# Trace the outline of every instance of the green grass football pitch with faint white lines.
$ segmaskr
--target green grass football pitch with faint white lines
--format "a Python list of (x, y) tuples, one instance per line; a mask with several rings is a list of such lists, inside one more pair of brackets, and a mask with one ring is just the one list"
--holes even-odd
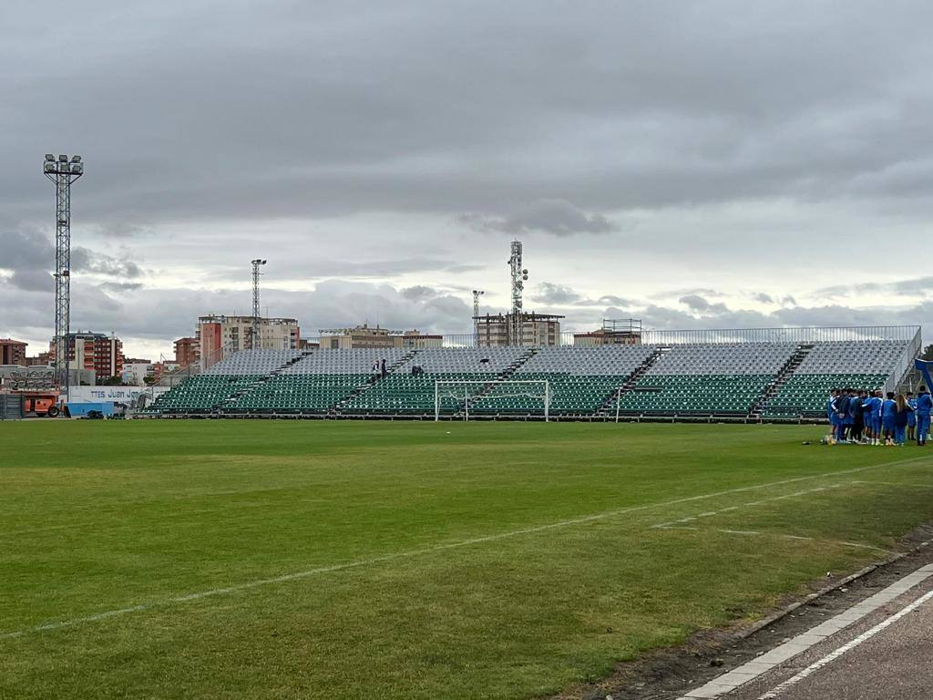
[(0, 697), (557, 693), (933, 518), (933, 453), (822, 432), (0, 424)]

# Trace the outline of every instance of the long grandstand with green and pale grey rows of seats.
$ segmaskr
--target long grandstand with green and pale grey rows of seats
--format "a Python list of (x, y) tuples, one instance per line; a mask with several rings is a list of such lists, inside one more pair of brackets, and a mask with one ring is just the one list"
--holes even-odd
[(912, 387), (921, 343), (918, 327), (646, 331), (641, 340), (243, 350), (175, 385), (141, 414), (819, 420), (833, 387)]

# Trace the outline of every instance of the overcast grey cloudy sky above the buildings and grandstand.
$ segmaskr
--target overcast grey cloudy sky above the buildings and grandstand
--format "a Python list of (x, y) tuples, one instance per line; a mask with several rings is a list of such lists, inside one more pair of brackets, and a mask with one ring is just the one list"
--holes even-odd
[(0, 7), (0, 336), (53, 327), (46, 152), (80, 153), (72, 328), (933, 323), (924, 0)]

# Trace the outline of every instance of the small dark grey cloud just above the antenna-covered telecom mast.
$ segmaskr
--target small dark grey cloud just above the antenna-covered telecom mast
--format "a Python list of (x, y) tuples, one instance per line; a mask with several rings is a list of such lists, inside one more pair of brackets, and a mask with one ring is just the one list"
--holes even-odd
[(618, 231), (618, 224), (602, 214), (587, 214), (566, 200), (538, 200), (508, 217), (463, 214), (457, 220), (476, 231), (500, 231), (519, 234), (543, 231), (556, 236), (575, 233), (609, 233)]

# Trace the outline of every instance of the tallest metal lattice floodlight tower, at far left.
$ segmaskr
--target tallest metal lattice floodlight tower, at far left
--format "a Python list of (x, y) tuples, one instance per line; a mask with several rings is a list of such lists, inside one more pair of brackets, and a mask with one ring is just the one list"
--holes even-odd
[(71, 183), (84, 175), (80, 156), (46, 153), (42, 172), (55, 185), (55, 382), (68, 400), (68, 334), (71, 330)]

